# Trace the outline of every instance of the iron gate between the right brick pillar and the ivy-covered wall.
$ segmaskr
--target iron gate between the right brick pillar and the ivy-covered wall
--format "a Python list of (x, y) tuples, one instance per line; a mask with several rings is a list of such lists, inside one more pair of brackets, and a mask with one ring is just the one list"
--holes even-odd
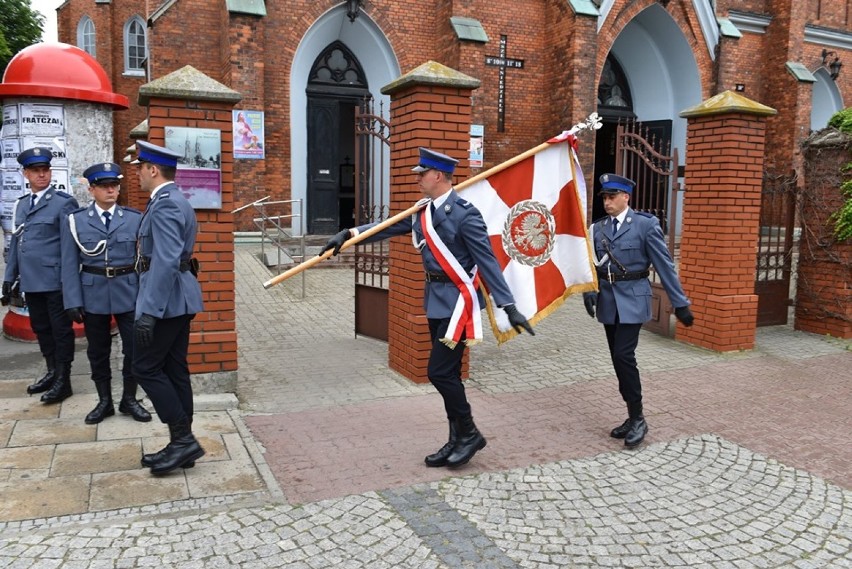
[(796, 222), (796, 173), (764, 172), (754, 292), (757, 325), (787, 323)]

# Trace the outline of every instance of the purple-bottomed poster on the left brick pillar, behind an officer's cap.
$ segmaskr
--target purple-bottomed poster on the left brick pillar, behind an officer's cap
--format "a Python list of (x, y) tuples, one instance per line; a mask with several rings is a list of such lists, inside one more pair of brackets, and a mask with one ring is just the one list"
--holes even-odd
[(166, 127), (166, 148), (182, 156), (175, 184), (195, 209), (222, 207), (222, 133), (210, 128)]

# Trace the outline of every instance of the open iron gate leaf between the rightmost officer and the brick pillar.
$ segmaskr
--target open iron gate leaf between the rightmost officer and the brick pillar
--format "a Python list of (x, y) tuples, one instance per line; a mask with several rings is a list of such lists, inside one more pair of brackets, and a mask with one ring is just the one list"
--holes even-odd
[[(615, 173), (636, 182), (630, 206), (655, 215), (660, 221), (672, 258), (675, 258), (678, 182), (677, 148), (671, 148), (671, 136), (662, 137), (656, 129), (634, 120), (618, 124)], [(669, 133), (671, 131), (669, 130)], [(663, 285), (651, 271), (651, 320), (644, 328), (664, 336), (674, 335), (674, 312)]]

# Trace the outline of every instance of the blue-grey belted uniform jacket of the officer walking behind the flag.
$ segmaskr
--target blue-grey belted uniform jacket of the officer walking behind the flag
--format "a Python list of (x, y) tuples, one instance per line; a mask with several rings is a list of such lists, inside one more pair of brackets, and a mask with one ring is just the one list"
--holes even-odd
[[(595, 221), (592, 225), (595, 255), (598, 259), (610, 254), (628, 273), (642, 272), (653, 265), (672, 306), (679, 308), (689, 305), (656, 217), (628, 208), (624, 223), (614, 237), (609, 216)], [(613, 274), (624, 272), (611, 258), (598, 267), (598, 321), (603, 324), (615, 324), (616, 311), (619, 322), (624, 324), (641, 324), (650, 320), (651, 283), (648, 279), (610, 283), (605, 277), (607, 269)]]

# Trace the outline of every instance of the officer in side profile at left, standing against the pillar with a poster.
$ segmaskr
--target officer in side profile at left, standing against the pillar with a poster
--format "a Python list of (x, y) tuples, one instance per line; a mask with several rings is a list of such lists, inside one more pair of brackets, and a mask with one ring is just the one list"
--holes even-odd
[(142, 465), (159, 475), (193, 466), (204, 456), (192, 434), (187, 364), (190, 323), (203, 305), (198, 264), (192, 258), (195, 211), (174, 183), (181, 156), (145, 141), (138, 141), (136, 148), (139, 185), (151, 199), (139, 226), (133, 375), (169, 426), (169, 444), (142, 457)]

